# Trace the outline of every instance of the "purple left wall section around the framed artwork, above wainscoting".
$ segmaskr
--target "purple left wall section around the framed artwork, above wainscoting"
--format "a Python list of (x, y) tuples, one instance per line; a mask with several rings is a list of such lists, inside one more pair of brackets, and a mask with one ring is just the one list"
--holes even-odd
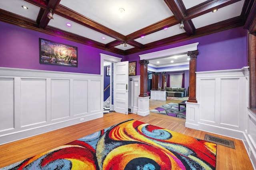
[[(100, 74), (100, 53), (122, 55), (0, 21), (0, 67)], [(78, 47), (78, 67), (39, 63), (39, 38)]]

